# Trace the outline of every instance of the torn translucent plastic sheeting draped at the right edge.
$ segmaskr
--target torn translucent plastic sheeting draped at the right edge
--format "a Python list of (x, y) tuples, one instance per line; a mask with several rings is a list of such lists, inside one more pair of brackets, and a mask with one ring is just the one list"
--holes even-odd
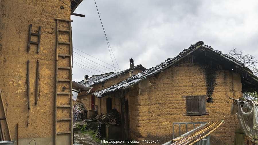
[(231, 114), (238, 117), (239, 128), (253, 141), (258, 142), (258, 104), (251, 100), (239, 98), (231, 106)]

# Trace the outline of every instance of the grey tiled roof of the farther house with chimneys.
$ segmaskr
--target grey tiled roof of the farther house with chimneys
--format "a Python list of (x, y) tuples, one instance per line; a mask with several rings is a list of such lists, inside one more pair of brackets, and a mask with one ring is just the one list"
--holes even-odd
[[(139, 64), (137, 66), (134, 66), (133, 69), (136, 69), (136, 68), (146, 70), (146, 68), (144, 68), (141, 64)], [(90, 77), (87, 82), (84, 82), (84, 80), (83, 80), (79, 83), (82, 84), (82, 85), (86, 85), (86, 86), (92, 86), (92, 85), (107, 81), (109, 79), (112, 79), (112, 78), (114, 78), (118, 75), (122, 75), (122, 74), (127, 73), (127, 72), (129, 72), (129, 69), (123, 70), (123, 71), (120, 71), (120, 72), (117, 72), (117, 73), (110, 72), (110, 73), (105, 73), (105, 74), (102, 74), (102, 75), (95, 75), (95, 76)]]

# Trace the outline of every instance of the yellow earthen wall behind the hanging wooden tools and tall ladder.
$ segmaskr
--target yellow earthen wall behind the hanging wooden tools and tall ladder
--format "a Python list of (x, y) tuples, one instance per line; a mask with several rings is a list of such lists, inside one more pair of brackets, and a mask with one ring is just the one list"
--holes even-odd
[[(70, 5), (70, 0), (63, 1)], [(64, 9), (60, 9), (61, 5), (64, 6)], [(56, 20), (54, 18), (70, 19), (70, 8), (58, 0), (1, 0), (0, 7), (0, 88), (7, 111), (11, 137), (17, 138), (16, 124), (19, 123), (19, 138), (48, 137), (49, 139), (54, 136), (56, 48)], [(35, 44), (31, 44), (30, 51), (27, 52), (30, 24), (32, 24), (34, 33), (38, 33), (39, 26), (42, 26), (39, 53), (36, 52), (37, 45)], [(31, 40), (37, 41), (38, 37), (32, 36)], [(26, 74), (28, 60), (30, 60), (31, 109), (29, 111), (30, 124), (27, 127)], [(41, 95), (38, 105), (35, 105), (37, 60), (40, 62)], [(60, 64), (69, 64), (69, 58), (60, 60)], [(59, 75), (71, 79), (68, 73), (59, 73)], [(70, 86), (66, 87), (70, 88)], [(3, 111), (0, 112), (3, 117)], [(3, 121), (1, 122), (5, 124)], [(69, 125), (67, 127), (69, 129)], [(64, 128), (67, 129), (67, 127)], [(4, 133), (8, 140), (5, 126)]]

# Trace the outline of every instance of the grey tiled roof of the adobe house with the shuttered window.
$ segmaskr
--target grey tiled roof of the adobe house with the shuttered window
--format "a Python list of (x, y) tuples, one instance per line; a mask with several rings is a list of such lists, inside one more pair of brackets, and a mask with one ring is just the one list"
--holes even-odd
[[(162, 62), (161, 64), (159, 64), (159, 65), (157, 65), (155, 67), (149, 68), (149, 69), (147, 69), (147, 70), (145, 70), (145, 71), (143, 71), (141, 73), (133, 75), (132, 77), (117, 83), (116, 85), (113, 85), (113, 86), (110, 86), (108, 88), (105, 88), (105, 89), (93, 92), (92, 95), (95, 95), (97, 97), (104, 97), (105, 95), (108, 95), (111, 92), (117, 91), (117, 90), (119, 90), (121, 88), (127, 89), (127, 88), (129, 88), (129, 87), (139, 83), (143, 79), (151, 77), (151, 76), (155, 75), (156, 73), (159, 73), (162, 70), (168, 68), (169, 66), (171, 66), (174, 63), (178, 62), (179, 60), (185, 58), (186, 56), (188, 56), (189, 54), (191, 54), (192, 52), (194, 52), (198, 48), (203, 49), (203, 51), (204, 50), (208, 50), (210, 52), (213, 52), (214, 54), (216, 54), (216, 55), (226, 59), (229, 62), (232, 62), (232, 63), (240, 66), (241, 68), (244, 67), (243, 66), (244, 65), (243, 62), (239, 62), (236, 59), (232, 58), (231, 56), (228, 56), (227, 54), (223, 54), (221, 51), (214, 50), (211, 46), (205, 45), (202, 41), (199, 41), (196, 44), (191, 45), (188, 49), (184, 49), (177, 56), (175, 56), (173, 58), (168, 58), (167, 60), (165, 60), (165, 62)], [(253, 74), (251, 74), (251, 75), (253, 75)]]

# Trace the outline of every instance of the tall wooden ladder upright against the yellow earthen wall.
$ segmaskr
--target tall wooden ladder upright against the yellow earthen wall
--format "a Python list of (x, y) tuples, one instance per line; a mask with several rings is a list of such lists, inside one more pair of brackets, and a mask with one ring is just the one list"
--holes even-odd
[[(55, 80), (55, 103), (54, 103), (55, 105), (54, 106), (54, 145), (57, 144), (57, 136), (62, 134), (63, 135), (70, 134), (70, 145), (73, 145), (73, 111), (72, 111), (73, 101), (72, 101), (72, 66), (71, 66), (72, 64), (71, 21), (72, 20), (58, 19), (58, 18), (55, 18), (55, 19), (56, 19), (56, 74), (55, 74), (56, 80)], [(69, 28), (67, 30), (67, 29), (60, 29), (60, 27), (61, 28), (69, 27)], [(62, 33), (63, 35), (59, 36), (59, 32)], [(68, 37), (69, 37), (69, 40), (67, 39)], [(68, 40), (69, 42), (62, 42), (60, 40)], [(60, 48), (59, 48), (59, 45), (60, 45)], [(59, 51), (62, 54), (59, 54), (58, 53)], [(65, 59), (67, 58), (69, 58), (69, 65), (61, 66), (61, 65), (67, 64), (65, 62)], [(67, 75), (65, 75), (67, 74), (67, 71), (69, 72), (69, 78), (67, 78)], [(65, 86), (69, 86), (69, 88), (67, 89)], [(67, 117), (67, 114), (65, 114), (65, 112), (69, 112), (69, 117)], [(70, 126), (69, 130), (62, 130), (61, 128), (57, 128), (57, 126), (58, 127), (65, 126), (64, 124), (67, 122), (69, 122), (69, 126)]]

